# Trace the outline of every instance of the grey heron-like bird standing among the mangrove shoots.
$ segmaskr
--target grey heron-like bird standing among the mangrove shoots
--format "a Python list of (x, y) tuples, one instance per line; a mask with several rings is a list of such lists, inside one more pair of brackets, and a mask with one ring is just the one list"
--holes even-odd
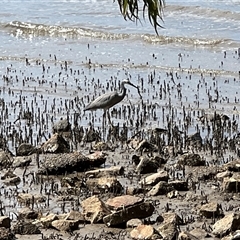
[[(104, 118), (106, 117), (106, 113), (107, 113), (108, 120), (109, 120), (109, 122), (112, 125), (112, 122), (111, 122), (108, 110), (112, 106), (114, 106), (117, 103), (121, 102), (123, 100), (123, 98), (126, 96), (126, 93), (127, 93), (127, 89), (125, 87), (126, 84), (131, 85), (131, 86), (137, 88), (138, 89), (138, 93), (139, 93), (139, 88), (137, 86), (132, 84), (128, 79), (124, 79), (121, 82), (121, 90), (120, 90), (120, 92), (114, 91), (114, 92), (110, 92), (110, 93), (105, 93), (105, 94), (97, 97), (96, 99), (94, 99), (90, 104), (88, 104), (85, 107), (84, 112), (85, 111), (89, 111), (89, 110), (93, 111), (93, 110), (97, 110), (97, 109), (103, 109), (104, 110), (103, 121), (104, 121)], [(140, 95), (140, 93), (139, 93), (139, 95)]]

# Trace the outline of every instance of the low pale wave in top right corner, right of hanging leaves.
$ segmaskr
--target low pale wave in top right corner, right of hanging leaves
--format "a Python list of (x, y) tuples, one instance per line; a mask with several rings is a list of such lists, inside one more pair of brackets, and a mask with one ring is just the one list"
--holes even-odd
[(222, 20), (232, 20), (239, 21), (240, 14), (239, 12), (232, 12), (228, 10), (220, 10), (214, 8), (204, 8), (200, 6), (180, 6), (180, 5), (168, 5), (166, 8), (166, 13), (177, 12), (184, 15), (191, 14), (200, 17), (216, 18)]

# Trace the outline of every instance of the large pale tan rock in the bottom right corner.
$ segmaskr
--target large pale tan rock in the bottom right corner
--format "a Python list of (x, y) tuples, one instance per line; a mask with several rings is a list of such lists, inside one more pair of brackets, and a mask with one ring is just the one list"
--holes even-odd
[(239, 230), (240, 214), (231, 213), (218, 220), (213, 225), (213, 234), (216, 236), (226, 236), (230, 231)]

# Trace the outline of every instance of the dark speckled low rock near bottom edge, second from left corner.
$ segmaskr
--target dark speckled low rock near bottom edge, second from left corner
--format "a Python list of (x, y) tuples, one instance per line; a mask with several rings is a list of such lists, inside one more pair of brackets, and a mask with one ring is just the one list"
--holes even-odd
[(32, 235), (32, 234), (41, 233), (41, 231), (36, 225), (34, 225), (31, 222), (25, 222), (25, 221), (18, 221), (13, 227), (13, 232), (15, 234), (21, 234), (21, 235)]

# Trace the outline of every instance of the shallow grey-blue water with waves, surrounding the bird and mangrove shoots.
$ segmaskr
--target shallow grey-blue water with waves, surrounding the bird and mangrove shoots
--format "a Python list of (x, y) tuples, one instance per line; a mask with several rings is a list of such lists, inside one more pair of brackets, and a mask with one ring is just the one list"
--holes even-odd
[[(83, 115), (83, 108), (126, 77), (141, 87), (143, 100), (129, 88), (115, 106), (122, 114), (113, 121), (120, 126), (134, 127), (144, 116), (142, 128), (164, 128), (172, 116), (193, 133), (203, 110), (238, 121), (239, 1), (167, 1), (159, 36), (148, 22), (124, 21), (109, 0), (3, 1), (0, 16), (1, 133), (8, 132), (11, 149), (18, 145), (11, 139), (15, 130), (22, 131), (20, 142), (40, 144), (39, 132), (48, 136), (61, 117), (73, 122), (80, 114), (84, 127), (94, 117), (101, 127), (102, 111)], [(209, 102), (217, 93), (218, 101)], [(124, 117), (130, 103), (135, 111)], [(184, 111), (193, 116), (193, 110), (184, 129)], [(34, 124), (24, 120), (25, 112), (32, 112)]]

